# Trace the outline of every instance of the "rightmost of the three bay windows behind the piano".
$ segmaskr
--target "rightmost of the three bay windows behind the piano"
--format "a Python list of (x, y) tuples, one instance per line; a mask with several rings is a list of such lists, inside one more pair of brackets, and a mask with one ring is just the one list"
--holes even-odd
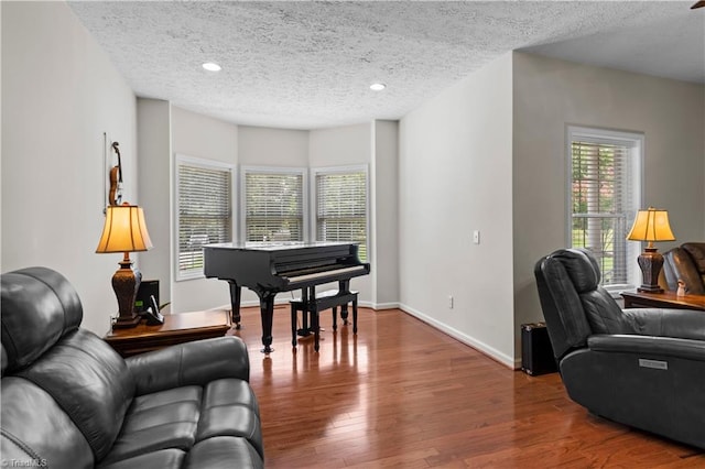
[(317, 241), (355, 241), (367, 261), (367, 167), (314, 170)]

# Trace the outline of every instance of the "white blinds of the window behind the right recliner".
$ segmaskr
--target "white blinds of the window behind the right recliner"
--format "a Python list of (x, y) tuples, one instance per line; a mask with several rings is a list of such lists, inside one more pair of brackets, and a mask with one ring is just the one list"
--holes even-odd
[(627, 217), (638, 208), (631, 161), (628, 144), (572, 142), (572, 246), (595, 254), (603, 284), (627, 283)]

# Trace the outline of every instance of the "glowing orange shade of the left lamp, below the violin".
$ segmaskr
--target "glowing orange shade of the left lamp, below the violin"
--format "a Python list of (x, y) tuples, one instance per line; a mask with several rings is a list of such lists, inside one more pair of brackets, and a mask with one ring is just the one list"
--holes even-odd
[(96, 252), (134, 252), (152, 248), (144, 211), (137, 205), (116, 205), (106, 209), (106, 225)]

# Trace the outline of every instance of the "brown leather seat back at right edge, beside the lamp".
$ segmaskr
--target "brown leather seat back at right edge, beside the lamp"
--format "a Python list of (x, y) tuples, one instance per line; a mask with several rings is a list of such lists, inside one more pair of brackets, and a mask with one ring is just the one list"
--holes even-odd
[(666, 251), (663, 274), (668, 290), (676, 291), (682, 280), (688, 295), (705, 295), (705, 242), (685, 242)]

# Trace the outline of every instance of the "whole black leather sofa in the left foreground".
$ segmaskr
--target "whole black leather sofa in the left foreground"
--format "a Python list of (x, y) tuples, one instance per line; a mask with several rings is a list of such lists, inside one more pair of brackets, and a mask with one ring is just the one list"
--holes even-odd
[(3, 467), (261, 468), (259, 406), (237, 337), (122, 359), (79, 327), (59, 273), (0, 279)]

